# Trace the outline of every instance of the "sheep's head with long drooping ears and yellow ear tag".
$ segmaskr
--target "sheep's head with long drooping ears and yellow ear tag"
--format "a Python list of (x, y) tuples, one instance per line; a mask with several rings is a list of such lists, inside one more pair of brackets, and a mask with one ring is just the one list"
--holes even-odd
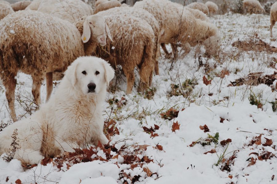
[(110, 29), (106, 24), (106, 20), (99, 15), (90, 15), (86, 17), (83, 23), (82, 41), (86, 43), (89, 39), (93, 39), (99, 45), (106, 45), (106, 35), (111, 41)]

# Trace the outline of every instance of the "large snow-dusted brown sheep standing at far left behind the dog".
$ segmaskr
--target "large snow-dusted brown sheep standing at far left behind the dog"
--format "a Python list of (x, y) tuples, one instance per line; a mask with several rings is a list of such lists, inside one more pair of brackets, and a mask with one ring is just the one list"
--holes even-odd
[(90, 45), (82, 42), (76, 25), (38, 11), (18, 11), (0, 21), (0, 77), (14, 121), (15, 76), (19, 71), (33, 78), (34, 102), (40, 105), (40, 86), (45, 76), (48, 100), (53, 89), (53, 71), (64, 71), (85, 52), (95, 52), (98, 43), (106, 44), (106, 35), (102, 36), (108, 30), (105, 19), (99, 16), (91, 19), (95, 22), (92, 30), (99, 36), (91, 35)]

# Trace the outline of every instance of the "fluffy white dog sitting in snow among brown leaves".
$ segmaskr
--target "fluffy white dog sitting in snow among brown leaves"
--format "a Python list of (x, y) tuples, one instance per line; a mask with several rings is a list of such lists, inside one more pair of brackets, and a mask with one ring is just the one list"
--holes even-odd
[[(76, 59), (46, 104), (0, 133), (0, 155), (10, 152), (22, 163), (34, 164), (44, 156), (72, 152), (87, 143), (108, 143), (102, 110), (106, 87), (113, 77), (114, 70), (100, 58)], [(15, 131), (18, 135), (14, 142), (18, 144), (12, 146)]]

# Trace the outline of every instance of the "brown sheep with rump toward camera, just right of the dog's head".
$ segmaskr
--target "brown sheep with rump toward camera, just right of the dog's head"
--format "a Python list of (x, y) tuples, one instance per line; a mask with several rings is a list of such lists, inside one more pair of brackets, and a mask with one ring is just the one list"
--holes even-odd
[[(114, 68), (117, 65), (122, 66), (127, 79), (126, 94), (132, 92), (135, 80), (134, 68), (138, 66), (140, 76), (138, 92), (141, 92), (151, 86), (152, 82), (155, 66), (154, 32), (151, 26), (141, 18), (136, 18), (130, 14), (108, 14), (106, 11), (98, 12), (96, 15), (106, 19), (113, 42), (107, 41), (105, 47), (97, 47), (96, 56), (109, 61)], [(88, 22), (90, 22), (90, 16), (78, 23), (80, 32), (82, 32), (83, 23), (82, 37), (85, 38), (88, 37), (87, 34), (90, 34)], [(87, 39), (84, 42), (86, 41)]]

